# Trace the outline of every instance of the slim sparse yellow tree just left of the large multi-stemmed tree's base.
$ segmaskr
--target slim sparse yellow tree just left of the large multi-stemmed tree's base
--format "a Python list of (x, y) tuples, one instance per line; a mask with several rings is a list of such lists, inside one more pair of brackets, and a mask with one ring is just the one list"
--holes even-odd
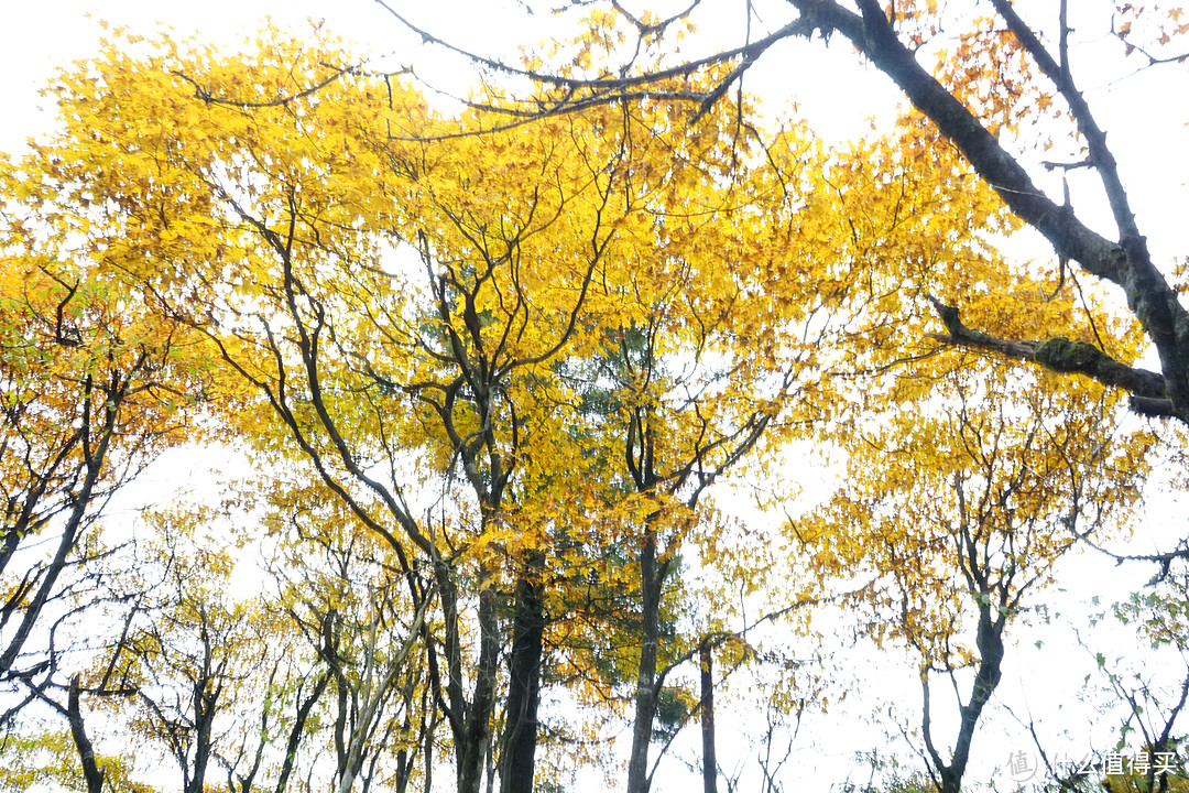
[[(439, 715), (426, 674), (422, 624), (432, 605), (404, 613), (400, 566), (380, 537), (360, 527), (333, 493), (308, 479), (285, 486), (270, 477), (249, 489), (266, 503), (263, 523), (273, 547), (266, 560), (279, 618), (316, 659), (302, 699), (317, 737), (290, 734), (284, 774), (297, 750), (321, 741), (334, 757), (335, 787), (367, 789), (382, 781), (430, 786)], [(237, 501), (244, 501), (239, 497)], [(294, 723), (294, 730), (300, 725)], [(278, 789), (284, 782), (278, 782)]]

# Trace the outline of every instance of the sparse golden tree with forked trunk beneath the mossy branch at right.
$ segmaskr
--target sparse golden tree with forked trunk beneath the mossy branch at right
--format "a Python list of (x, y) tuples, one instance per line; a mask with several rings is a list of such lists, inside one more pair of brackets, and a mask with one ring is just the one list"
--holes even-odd
[[(1097, 386), (1052, 390), (974, 361), (944, 377), (958, 399), (900, 404), (856, 433), (847, 484), (792, 531), (818, 574), (872, 577), (855, 598), (870, 609), (867, 632), (916, 656), (921, 756), (936, 788), (956, 793), (1008, 627), (1080, 539), (1126, 522), (1151, 439), (1112, 428)], [(968, 692), (952, 748), (932, 728), (936, 675)]]

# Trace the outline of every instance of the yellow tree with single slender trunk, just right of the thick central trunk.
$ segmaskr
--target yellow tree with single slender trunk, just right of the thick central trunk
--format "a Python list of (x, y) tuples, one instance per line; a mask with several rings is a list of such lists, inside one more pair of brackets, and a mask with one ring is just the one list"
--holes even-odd
[[(828, 152), (798, 126), (765, 145), (759, 136), (721, 134), (732, 115), (716, 118), (721, 126), (703, 130), (697, 145), (669, 143), (665, 131), (681, 124), (674, 108), (673, 126), (653, 127), (656, 140), (634, 143), (661, 146), (674, 171), (654, 194), (656, 244), (636, 250), (627, 276), (604, 279), (618, 300), (616, 319), (598, 354), (567, 364), (589, 382), (593, 432), (610, 449), (600, 498), (630, 510), (621, 530), (640, 548), (627, 567), (640, 619), (638, 637), (628, 638), (638, 647), (631, 789), (646, 788), (655, 769), (648, 754), (666, 676), (709, 636), (662, 641), (682, 545), (692, 540), (706, 564), (728, 566), (703, 496), (757, 446), (770, 454), (844, 416), (838, 397), (850, 386), (837, 375), (856, 360), (869, 367), (895, 358), (894, 334), (911, 333), (889, 320), (901, 308), (899, 290), (927, 290), (932, 257), (990, 256), (977, 225), (1000, 213), (984, 190), (944, 195), (946, 180), (963, 176), (952, 159), (882, 141)], [(905, 185), (899, 196), (860, 197), (866, 180), (879, 178), (863, 170), (873, 151), (887, 162), (883, 177), (895, 172)], [(748, 168), (756, 161), (766, 169)], [(908, 185), (919, 191), (905, 197)], [(872, 276), (869, 265), (891, 251), (919, 271)], [(750, 566), (743, 577), (763, 586), (754, 556), (737, 553), (735, 564)]]

